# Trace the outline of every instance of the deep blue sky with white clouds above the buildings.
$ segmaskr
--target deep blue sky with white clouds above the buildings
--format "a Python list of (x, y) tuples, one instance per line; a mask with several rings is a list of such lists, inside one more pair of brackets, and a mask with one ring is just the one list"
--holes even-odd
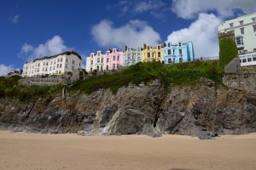
[[(68, 50), (194, 43), (218, 56), (218, 25), (256, 12), (255, 0), (1, 0), (0, 76), (26, 61)], [(84, 62), (84, 60), (83, 60)]]

